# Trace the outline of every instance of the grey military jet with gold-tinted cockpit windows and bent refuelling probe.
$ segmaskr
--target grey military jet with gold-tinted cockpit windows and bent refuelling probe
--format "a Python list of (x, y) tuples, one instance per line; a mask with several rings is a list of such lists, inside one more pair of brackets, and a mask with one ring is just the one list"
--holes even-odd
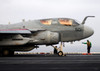
[(90, 37), (94, 31), (84, 25), (88, 17), (94, 16), (86, 16), (82, 23), (70, 18), (49, 18), (1, 25), (0, 55), (11, 56), (14, 51), (30, 51), (37, 45), (54, 45)]

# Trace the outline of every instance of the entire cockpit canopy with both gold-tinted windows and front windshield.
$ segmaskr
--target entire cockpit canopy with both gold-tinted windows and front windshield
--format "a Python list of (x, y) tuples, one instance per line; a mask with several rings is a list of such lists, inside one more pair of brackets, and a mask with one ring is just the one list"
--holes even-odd
[[(55, 21), (55, 22), (54, 22)], [(44, 25), (60, 24), (65, 26), (79, 25), (76, 20), (68, 18), (58, 18), (58, 19), (42, 19), (40, 22)]]

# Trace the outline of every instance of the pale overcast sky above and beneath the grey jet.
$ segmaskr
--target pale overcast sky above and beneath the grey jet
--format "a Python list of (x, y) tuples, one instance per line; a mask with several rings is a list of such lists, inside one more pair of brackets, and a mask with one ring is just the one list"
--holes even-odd
[[(88, 18), (85, 25), (94, 29), (94, 35), (87, 38), (92, 42), (92, 52), (100, 52), (100, 0), (0, 0), (0, 24), (11, 24), (25, 21), (66, 17), (80, 22), (85, 16)], [(73, 44), (65, 43), (64, 52), (86, 52), (87, 39), (76, 41)], [(59, 47), (59, 44), (57, 45)], [(33, 52), (51, 52), (51, 46), (40, 46)]]

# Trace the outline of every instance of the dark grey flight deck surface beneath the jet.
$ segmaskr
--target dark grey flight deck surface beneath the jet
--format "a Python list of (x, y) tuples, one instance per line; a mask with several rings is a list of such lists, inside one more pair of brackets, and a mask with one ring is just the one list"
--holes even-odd
[(100, 71), (100, 54), (0, 57), (0, 71)]

